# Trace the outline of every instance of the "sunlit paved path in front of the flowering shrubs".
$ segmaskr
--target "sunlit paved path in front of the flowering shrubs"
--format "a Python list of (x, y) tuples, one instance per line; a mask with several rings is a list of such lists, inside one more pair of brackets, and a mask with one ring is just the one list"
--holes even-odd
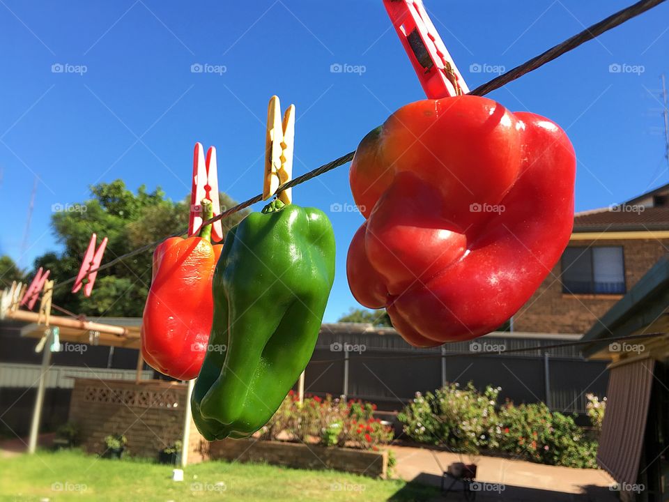
[[(395, 475), (406, 481), (439, 485), (441, 473), (453, 462), (470, 463), (468, 455), (432, 450), (391, 446), (397, 466)], [(606, 471), (598, 469), (570, 469), (546, 466), (500, 457), (477, 457), (477, 481), (484, 492), (477, 492), (477, 502), (615, 502), (617, 493)], [(445, 500), (464, 500), (463, 494), (448, 494)]]

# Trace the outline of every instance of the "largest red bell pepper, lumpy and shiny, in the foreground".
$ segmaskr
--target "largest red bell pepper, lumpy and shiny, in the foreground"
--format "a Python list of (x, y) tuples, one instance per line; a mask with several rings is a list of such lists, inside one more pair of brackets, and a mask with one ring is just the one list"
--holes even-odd
[(500, 327), (569, 241), (574, 149), (555, 123), (475, 96), (406, 105), (358, 146), (351, 190), (364, 218), (348, 283), (387, 307), (411, 344)]

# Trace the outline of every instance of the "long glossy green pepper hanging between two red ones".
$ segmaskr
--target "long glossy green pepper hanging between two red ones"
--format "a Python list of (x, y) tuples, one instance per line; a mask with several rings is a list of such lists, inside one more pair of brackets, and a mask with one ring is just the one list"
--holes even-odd
[(225, 238), (193, 420), (209, 441), (263, 427), (305, 370), (334, 280), (323, 211), (272, 201)]

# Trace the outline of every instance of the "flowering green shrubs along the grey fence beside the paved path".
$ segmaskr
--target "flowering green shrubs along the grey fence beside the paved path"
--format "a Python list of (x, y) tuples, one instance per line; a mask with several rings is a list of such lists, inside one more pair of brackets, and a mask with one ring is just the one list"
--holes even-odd
[(543, 403), (497, 406), (500, 388), (483, 393), (468, 383), (450, 383), (424, 396), (416, 394), (401, 413), (404, 432), (414, 441), (466, 453), (502, 450), (532, 462), (597, 467), (597, 442), (574, 418)]

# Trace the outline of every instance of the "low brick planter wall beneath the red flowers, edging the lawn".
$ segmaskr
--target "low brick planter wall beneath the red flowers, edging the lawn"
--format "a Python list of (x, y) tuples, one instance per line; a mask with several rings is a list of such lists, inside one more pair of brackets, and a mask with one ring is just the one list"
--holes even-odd
[(212, 459), (267, 462), (298, 469), (334, 469), (375, 478), (385, 478), (388, 469), (388, 452), (385, 451), (325, 448), (255, 439), (214, 441), (210, 443), (210, 456)]

